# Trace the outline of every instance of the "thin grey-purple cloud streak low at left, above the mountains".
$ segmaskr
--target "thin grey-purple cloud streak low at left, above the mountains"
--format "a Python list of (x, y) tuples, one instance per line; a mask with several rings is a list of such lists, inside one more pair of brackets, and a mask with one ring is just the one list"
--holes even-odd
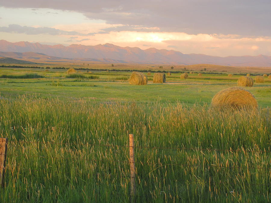
[(0, 32), (10, 32), (10, 33), (19, 33), (27, 35), (39, 35), (39, 34), (48, 34), (48, 35), (79, 35), (79, 36), (88, 36), (94, 35), (93, 33), (83, 34), (75, 31), (65, 31), (60, 29), (55, 29), (51, 27), (29, 27), (29, 26), (20, 26), (17, 24), (9, 25), (8, 27), (0, 27)]

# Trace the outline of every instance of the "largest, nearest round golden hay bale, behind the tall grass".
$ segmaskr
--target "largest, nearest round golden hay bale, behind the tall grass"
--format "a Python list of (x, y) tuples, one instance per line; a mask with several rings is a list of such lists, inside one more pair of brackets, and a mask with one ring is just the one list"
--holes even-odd
[(216, 93), (211, 106), (219, 109), (255, 109), (258, 107), (258, 103), (249, 91), (233, 87)]

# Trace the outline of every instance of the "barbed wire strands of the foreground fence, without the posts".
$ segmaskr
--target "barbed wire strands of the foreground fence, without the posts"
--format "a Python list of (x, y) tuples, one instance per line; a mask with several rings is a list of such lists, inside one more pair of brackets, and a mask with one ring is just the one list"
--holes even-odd
[[(103, 147), (124, 147), (124, 148), (145, 148), (145, 149), (155, 149), (155, 150), (184, 150), (184, 151), (188, 151), (188, 150), (193, 150), (193, 151), (207, 151), (207, 152), (231, 152), (231, 153), (238, 153), (238, 152), (243, 152), (243, 153), (270, 153), (271, 151), (269, 151), (270, 149), (266, 150), (248, 150), (248, 149), (208, 149), (208, 148), (185, 148), (185, 147), (156, 147), (156, 146), (128, 146), (128, 145), (111, 145), (111, 144), (90, 144), (90, 143), (64, 143), (64, 142), (45, 142), (45, 141), (25, 141), (25, 140), (13, 140), (13, 141), (8, 141), (8, 144), (12, 144), (12, 145), (17, 145), (17, 144), (29, 144), (29, 143), (35, 143), (38, 145), (81, 145), (81, 146), (103, 146)], [(41, 155), (27, 155), (27, 154), (16, 154), (16, 153), (6, 153), (6, 154), (1, 154), (1, 155), (5, 155), (5, 156), (12, 156), (12, 157), (37, 157), (37, 158), (44, 158), (44, 159), (63, 159), (63, 160), (84, 160), (84, 161), (95, 161), (95, 162), (117, 162), (117, 163), (127, 163), (127, 164), (140, 164), (142, 166), (144, 165), (149, 165), (150, 162), (144, 162), (144, 161), (140, 161), (140, 162), (136, 162), (136, 161), (122, 161), (122, 160), (106, 160), (106, 159), (89, 159), (89, 158), (65, 158), (65, 157), (46, 157), (46, 156), (41, 156)], [(157, 163), (159, 165), (170, 165), (168, 163), (162, 163), (159, 161), (159, 163)], [(178, 163), (174, 163), (174, 165), (176, 166), (182, 166), (182, 167), (204, 167), (204, 168), (238, 168), (238, 169), (256, 169), (256, 170), (266, 170), (266, 171), (271, 171), (271, 168), (263, 168), (263, 167), (245, 167), (245, 166), (222, 166), (222, 165), (217, 165), (217, 164), (178, 164)], [(12, 167), (11, 165), (7, 165), (6, 167), (0, 166), (0, 168), (4, 168), (5, 170), (11, 170)], [(38, 169), (33, 169), (33, 168), (23, 168), (20, 169), (23, 171), (40, 171), (40, 172), (45, 172), (45, 169), (43, 170), (38, 170)], [(66, 172), (67, 174), (70, 174), (71, 172)], [(97, 174), (93, 174), (93, 173), (78, 173), (78, 172), (73, 172), (73, 174), (77, 174), (77, 175), (99, 175), (99, 173)], [(120, 174), (120, 178), (129, 178), (131, 179), (131, 176), (125, 176)], [(145, 180), (145, 179), (154, 179), (154, 180), (160, 180), (161, 177), (139, 177), (137, 176), (137, 178), (139, 180)], [(163, 177), (163, 178), (167, 178), (167, 177)], [(163, 179), (164, 180), (164, 179)], [(184, 180), (184, 179), (178, 179), (178, 178), (167, 178), (167, 180), (172, 180), (172, 181), (189, 181), (189, 182), (197, 182), (198, 180)], [(254, 184), (254, 183), (249, 183), (249, 185), (258, 185), (258, 186), (270, 186), (269, 184)]]

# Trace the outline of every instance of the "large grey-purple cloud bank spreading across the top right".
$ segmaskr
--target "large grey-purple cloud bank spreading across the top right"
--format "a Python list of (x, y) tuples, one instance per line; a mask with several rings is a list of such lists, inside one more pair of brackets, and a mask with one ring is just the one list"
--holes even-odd
[(66, 0), (65, 4), (53, 0), (9, 0), (1, 5), (75, 11), (108, 24), (128, 25), (112, 28), (114, 31), (142, 26), (188, 34), (271, 35), (270, 0)]

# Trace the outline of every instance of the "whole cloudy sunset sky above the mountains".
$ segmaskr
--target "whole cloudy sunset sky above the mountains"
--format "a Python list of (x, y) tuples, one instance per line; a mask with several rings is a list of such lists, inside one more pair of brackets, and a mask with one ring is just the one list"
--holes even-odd
[(271, 0), (1, 0), (0, 39), (271, 56)]

